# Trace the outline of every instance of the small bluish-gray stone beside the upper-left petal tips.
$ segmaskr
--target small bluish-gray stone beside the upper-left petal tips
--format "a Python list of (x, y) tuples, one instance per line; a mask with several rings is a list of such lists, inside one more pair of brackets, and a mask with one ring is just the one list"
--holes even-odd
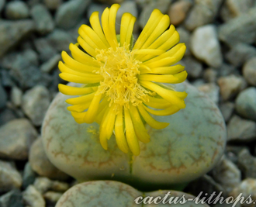
[(51, 47), (54, 47), (58, 52), (69, 51), (70, 43), (76, 42), (69, 33), (62, 29), (54, 29), (54, 32), (47, 36), (47, 40), (49, 40)]

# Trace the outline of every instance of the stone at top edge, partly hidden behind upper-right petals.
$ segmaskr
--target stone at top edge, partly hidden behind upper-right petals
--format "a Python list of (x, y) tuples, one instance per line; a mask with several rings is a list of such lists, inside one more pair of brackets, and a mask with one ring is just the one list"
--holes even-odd
[(159, 9), (163, 14), (167, 13), (171, 2), (172, 0), (157, 0), (145, 3), (139, 17), (140, 27), (143, 28), (146, 25), (154, 9)]

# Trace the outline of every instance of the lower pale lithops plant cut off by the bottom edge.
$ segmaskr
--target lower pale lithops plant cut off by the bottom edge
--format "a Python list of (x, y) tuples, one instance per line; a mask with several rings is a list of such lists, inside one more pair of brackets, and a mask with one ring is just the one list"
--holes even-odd
[[(160, 198), (157, 198), (158, 196)], [(74, 185), (66, 191), (57, 202), (56, 207), (209, 207), (209, 205), (195, 203), (190, 200), (194, 198), (194, 196), (182, 191), (144, 193), (118, 181), (88, 181)]]

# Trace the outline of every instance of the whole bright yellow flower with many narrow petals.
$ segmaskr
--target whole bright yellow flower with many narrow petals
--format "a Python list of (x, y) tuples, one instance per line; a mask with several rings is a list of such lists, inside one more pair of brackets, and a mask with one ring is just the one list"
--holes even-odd
[[(144, 122), (154, 129), (163, 129), (166, 122), (157, 122), (150, 114), (169, 116), (185, 108), (186, 93), (169, 85), (185, 81), (182, 59), (185, 44), (170, 19), (154, 9), (147, 25), (133, 45), (133, 25), (136, 18), (125, 13), (116, 36), (116, 12), (112, 5), (90, 17), (91, 26), (78, 29), (78, 43), (70, 45), (72, 57), (62, 52), (60, 77), (83, 84), (81, 88), (59, 85), (64, 95), (79, 95), (67, 99), (67, 110), (78, 123), (98, 122), (100, 143), (107, 150), (112, 133), (120, 150), (140, 154), (139, 141), (147, 143), (150, 136)], [(169, 27), (169, 28), (168, 28)], [(178, 44), (177, 44), (178, 43)], [(84, 51), (85, 50), (85, 51)], [(161, 110), (159, 110), (161, 109)]]

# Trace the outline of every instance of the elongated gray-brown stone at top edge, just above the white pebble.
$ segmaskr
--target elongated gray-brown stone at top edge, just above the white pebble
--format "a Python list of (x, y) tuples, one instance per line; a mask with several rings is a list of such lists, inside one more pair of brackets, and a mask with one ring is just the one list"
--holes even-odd
[(193, 30), (213, 22), (223, 0), (197, 0), (185, 20), (185, 27)]

